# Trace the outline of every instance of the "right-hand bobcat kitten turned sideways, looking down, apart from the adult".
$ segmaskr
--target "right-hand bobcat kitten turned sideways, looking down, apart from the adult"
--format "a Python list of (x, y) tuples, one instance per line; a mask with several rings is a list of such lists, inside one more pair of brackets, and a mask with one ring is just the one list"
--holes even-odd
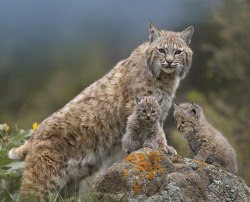
[(174, 104), (177, 129), (188, 141), (189, 157), (235, 174), (238, 170), (236, 153), (227, 139), (205, 118), (197, 104)]

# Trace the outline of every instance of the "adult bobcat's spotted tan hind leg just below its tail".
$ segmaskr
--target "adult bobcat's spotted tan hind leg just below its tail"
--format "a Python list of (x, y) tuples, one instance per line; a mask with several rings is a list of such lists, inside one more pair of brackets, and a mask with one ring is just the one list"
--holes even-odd
[(31, 151), (25, 161), (20, 188), (21, 201), (50, 201), (66, 184), (63, 178), (63, 158), (52, 149)]

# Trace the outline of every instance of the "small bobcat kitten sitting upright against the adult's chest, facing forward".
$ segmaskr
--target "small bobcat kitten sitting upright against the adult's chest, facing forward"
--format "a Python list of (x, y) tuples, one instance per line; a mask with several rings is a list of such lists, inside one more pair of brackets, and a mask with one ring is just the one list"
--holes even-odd
[(165, 134), (160, 126), (163, 96), (135, 96), (135, 108), (128, 117), (127, 131), (122, 138), (122, 147), (128, 154), (142, 147), (161, 148), (167, 153), (175, 153), (167, 145)]

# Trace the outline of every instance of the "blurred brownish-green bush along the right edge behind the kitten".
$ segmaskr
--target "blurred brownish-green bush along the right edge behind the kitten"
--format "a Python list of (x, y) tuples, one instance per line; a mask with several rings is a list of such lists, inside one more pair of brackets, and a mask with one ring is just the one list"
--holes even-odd
[[(223, 128), (230, 128), (228, 135), (234, 141), (238, 154), (239, 172), (246, 183), (250, 162), (250, 2), (228, 0), (214, 13), (210, 29), (218, 28), (220, 43), (203, 43), (202, 50), (211, 57), (206, 63), (207, 99), (220, 114), (230, 118)], [(234, 122), (235, 124), (232, 124)]]

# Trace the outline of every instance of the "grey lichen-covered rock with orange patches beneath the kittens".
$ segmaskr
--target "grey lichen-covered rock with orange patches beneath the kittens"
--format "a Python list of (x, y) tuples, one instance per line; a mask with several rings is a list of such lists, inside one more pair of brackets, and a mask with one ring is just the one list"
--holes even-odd
[(142, 148), (94, 183), (100, 201), (250, 201), (244, 181), (213, 165)]

